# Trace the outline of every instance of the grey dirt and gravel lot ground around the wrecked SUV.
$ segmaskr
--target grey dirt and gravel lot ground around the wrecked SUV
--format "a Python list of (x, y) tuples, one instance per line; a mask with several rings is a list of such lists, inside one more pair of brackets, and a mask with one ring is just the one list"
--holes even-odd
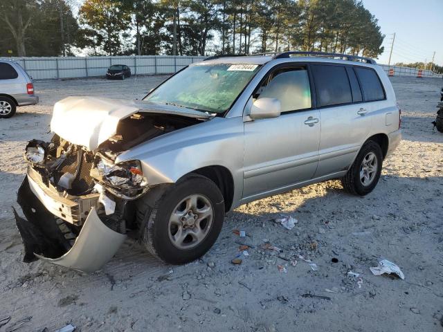
[[(392, 79), (404, 140), (368, 196), (350, 196), (329, 181), (244, 205), (227, 216), (212, 250), (186, 266), (161, 264), (132, 240), (92, 275), (22, 263), (10, 207), (17, 206), (26, 142), (50, 137), (54, 102), (69, 95), (141, 98), (164, 78), (35, 82), (40, 104), (0, 121), (0, 320), (12, 317), (0, 332), (28, 316), (17, 331), (53, 331), (67, 322), (78, 331), (443, 331), (443, 134), (431, 125), (443, 86), (437, 79)], [(276, 224), (282, 214), (298, 219), (296, 227)], [(282, 252), (260, 249), (264, 239)], [(253, 248), (233, 266), (238, 243)], [(406, 278), (372, 275), (380, 258)], [(348, 271), (361, 274), (361, 288)]]

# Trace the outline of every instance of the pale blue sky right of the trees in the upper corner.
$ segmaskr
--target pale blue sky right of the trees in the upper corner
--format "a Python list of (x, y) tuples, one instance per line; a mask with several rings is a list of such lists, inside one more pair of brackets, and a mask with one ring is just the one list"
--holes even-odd
[(377, 62), (388, 64), (395, 33), (391, 64), (430, 62), (435, 51), (434, 63), (443, 66), (443, 0), (363, 0), (363, 5), (386, 35)]

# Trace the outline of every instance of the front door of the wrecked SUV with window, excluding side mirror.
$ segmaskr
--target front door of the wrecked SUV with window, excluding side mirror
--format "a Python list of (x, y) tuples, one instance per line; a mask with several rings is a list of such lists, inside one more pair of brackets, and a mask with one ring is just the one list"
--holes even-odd
[(306, 66), (273, 70), (252, 97), (277, 98), (282, 108), (278, 118), (244, 122), (244, 199), (310, 180), (320, 142), (320, 113), (312, 108)]

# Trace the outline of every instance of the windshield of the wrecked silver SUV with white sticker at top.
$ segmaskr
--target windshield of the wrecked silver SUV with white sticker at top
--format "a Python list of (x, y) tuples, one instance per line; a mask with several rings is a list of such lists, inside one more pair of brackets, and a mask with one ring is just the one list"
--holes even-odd
[(256, 64), (189, 66), (161, 84), (145, 100), (224, 113), (259, 68)]

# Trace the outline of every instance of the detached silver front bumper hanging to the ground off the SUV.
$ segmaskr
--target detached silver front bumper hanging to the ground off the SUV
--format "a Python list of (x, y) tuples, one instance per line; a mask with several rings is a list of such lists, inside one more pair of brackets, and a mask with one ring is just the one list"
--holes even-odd
[[(32, 183), (32, 185), (30, 185)], [(35, 181), (26, 176), (19, 188), (17, 203), (26, 216), (15, 212), (17, 228), (24, 243), (24, 261), (37, 257), (53, 264), (73, 268), (86, 273), (99, 270), (111, 259), (126, 239), (125, 234), (111, 230), (103, 223), (92, 207), (73, 246), (57, 225), (57, 216), (49, 212), (53, 203), (39, 199), (31, 189)], [(57, 197), (51, 197), (57, 201)], [(60, 196), (60, 204), (64, 197)], [(47, 206), (46, 206), (47, 205)]]

